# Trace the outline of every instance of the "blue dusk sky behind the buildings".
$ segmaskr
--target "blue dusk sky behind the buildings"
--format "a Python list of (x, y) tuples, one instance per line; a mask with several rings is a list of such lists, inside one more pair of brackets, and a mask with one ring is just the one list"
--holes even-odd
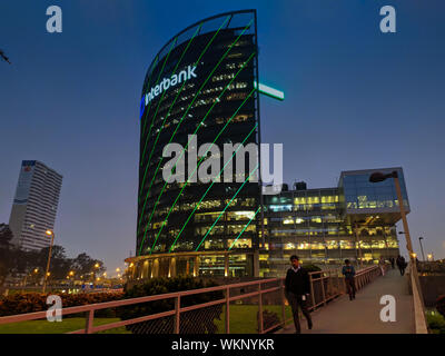
[[(62, 33), (46, 10), (62, 9)], [(382, 33), (379, 9), (396, 9)], [(139, 100), (177, 32), (220, 12), (258, 11), (264, 142), (284, 144), (285, 181), (335, 187), (342, 170), (402, 166), (414, 248), (445, 257), (443, 0), (0, 2), (0, 222), (20, 164), (63, 175), (57, 244), (109, 269), (135, 254)], [(399, 228), (402, 225), (399, 225)], [(400, 244), (404, 251), (404, 245)]]

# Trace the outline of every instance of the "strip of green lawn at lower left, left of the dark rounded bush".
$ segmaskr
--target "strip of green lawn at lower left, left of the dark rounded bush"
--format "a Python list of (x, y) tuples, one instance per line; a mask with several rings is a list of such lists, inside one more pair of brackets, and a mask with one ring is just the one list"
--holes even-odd
[[(95, 326), (119, 322), (119, 318), (95, 318)], [(0, 334), (65, 334), (85, 328), (85, 318), (63, 318), (61, 322), (31, 320), (0, 325)], [(125, 327), (99, 334), (131, 334)]]

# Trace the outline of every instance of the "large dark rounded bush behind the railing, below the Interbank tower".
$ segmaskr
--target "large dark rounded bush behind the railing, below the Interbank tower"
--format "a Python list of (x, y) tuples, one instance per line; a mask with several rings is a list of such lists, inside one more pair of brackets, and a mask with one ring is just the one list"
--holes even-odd
[[(212, 280), (205, 283), (194, 277), (152, 278), (144, 284), (135, 285), (125, 291), (125, 298), (137, 298), (180, 290), (214, 287)], [(181, 307), (222, 299), (221, 291), (210, 291), (181, 297)], [(175, 309), (175, 298), (149, 301), (138, 305), (129, 305), (118, 309), (118, 316), (128, 320), (141, 316), (162, 313)], [(180, 334), (214, 334), (217, 332), (215, 319), (220, 319), (222, 305), (210, 306), (181, 313)], [(127, 329), (134, 334), (168, 334), (172, 332), (174, 317), (164, 317), (154, 320), (128, 325)]]

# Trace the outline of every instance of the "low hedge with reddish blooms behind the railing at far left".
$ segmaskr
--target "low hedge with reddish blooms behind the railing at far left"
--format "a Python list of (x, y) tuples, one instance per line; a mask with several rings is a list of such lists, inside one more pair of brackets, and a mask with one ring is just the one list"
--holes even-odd
[[(26, 293), (13, 294), (0, 298), (0, 316), (44, 312), (48, 310), (47, 297), (50, 294)], [(62, 307), (69, 308), (80, 305), (105, 303), (122, 299), (123, 293), (89, 293), (89, 294), (57, 294), (62, 299)], [(99, 317), (111, 317), (113, 312), (110, 309), (98, 310), (95, 313)]]

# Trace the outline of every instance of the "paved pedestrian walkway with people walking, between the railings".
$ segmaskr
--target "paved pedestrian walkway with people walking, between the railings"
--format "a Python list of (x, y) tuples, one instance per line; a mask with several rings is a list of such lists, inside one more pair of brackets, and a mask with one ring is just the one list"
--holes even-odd
[[(396, 299), (396, 322), (380, 320), (380, 297), (392, 295)], [(359, 290), (354, 300), (342, 296), (327, 306), (312, 313), (314, 327), (307, 329), (304, 317), (300, 318), (304, 334), (414, 334), (413, 296), (408, 294), (406, 276), (398, 269), (389, 269)], [(294, 334), (295, 327), (288, 325), (277, 334)]]

